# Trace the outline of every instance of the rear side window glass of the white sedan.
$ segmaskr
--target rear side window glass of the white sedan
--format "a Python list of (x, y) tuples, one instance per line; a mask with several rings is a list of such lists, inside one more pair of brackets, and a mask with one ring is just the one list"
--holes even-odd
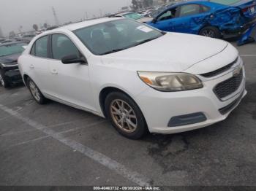
[(43, 36), (34, 43), (31, 55), (48, 58), (48, 36)]

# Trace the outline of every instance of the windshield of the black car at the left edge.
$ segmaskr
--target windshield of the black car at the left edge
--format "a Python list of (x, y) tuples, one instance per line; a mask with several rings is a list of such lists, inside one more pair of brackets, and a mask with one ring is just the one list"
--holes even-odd
[(14, 55), (23, 52), (24, 47), (26, 44), (20, 43), (20, 44), (7, 44), (4, 46), (0, 46), (0, 56), (4, 55)]

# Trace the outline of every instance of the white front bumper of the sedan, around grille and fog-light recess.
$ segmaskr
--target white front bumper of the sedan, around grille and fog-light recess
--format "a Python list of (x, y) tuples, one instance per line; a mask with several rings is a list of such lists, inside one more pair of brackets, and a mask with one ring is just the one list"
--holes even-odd
[[(244, 68), (244, 67), (243, 67)], [(220, 82), (233, 77), (233, 71), (203, 82), (204, 87), (184, 92), (162, 93), (152, 88), (136, 97), (151, 133), (180, 133), (195, 130), (225, 120), (246, 95), (245, 73), (238, 90), (219, 100), (213, 89)], [(222, 113), (222, 110), (225, 113)], [(189, 114), (203, 114), (206, 120), (189, 125), (170, 126), (170, 119)]]

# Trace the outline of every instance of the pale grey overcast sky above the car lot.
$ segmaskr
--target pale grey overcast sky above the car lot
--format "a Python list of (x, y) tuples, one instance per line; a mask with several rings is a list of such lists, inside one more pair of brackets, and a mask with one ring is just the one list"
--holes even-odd
[(121, 7), (131, 4), (132, 0), (0, 0), (0, 28), (4, 35), (10, 31), (33, 30), (48, 23), (55, 24), (52, 7), (55, 8), (59, 23), (78, 21), (86, 17), (117, 12)]

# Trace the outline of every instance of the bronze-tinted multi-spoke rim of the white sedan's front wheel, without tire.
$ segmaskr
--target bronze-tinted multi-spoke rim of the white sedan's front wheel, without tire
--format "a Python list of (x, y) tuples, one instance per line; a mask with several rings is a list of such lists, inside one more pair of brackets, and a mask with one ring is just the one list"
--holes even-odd
[(115, 124), (127, 133), (135, 132), (138, 120), (134, 110), (123, 100), (113, 100), (110, 104), (110, 114)]

